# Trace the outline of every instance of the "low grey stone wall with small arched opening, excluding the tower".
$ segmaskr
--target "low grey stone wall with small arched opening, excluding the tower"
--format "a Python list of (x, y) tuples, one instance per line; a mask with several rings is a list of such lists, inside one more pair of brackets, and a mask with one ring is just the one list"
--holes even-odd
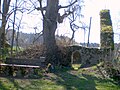
[(110, 49), (87, 48), (82, 46), (69, 46), (71, 63), (89, 67), (98, 64), (103, 59), (109, 59)]

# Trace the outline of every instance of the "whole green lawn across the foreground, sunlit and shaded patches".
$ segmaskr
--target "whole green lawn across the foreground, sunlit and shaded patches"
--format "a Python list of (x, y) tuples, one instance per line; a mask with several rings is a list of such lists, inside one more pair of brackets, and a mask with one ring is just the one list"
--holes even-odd
[(0, 77), (0, 90), (120, 90), (112, 80), (102, 79), (97, 69), (57, 69), (39, 79)]

